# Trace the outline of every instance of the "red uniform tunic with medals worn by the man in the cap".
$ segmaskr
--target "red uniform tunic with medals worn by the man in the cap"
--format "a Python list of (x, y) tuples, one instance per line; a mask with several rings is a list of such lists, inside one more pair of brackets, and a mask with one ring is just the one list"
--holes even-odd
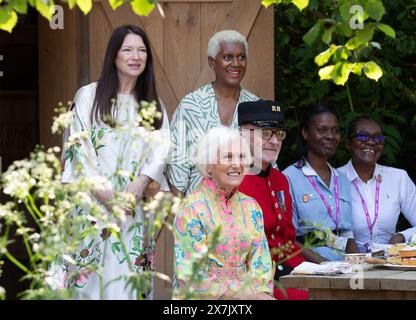
[[(268, 167), (258, 175), (248, 174), (239, 186), (239, 191), (254, 198), (263, 211), (264, 229), (273, 261), (280, 263), (286, 256), (300, 248), (295, 243), (296, 231), (292, 222), (292, 197), (289, 182), (280, 171)], [(302, 254), (281, 263), (291, 268), (305, 261)], [(286, 289), (287, 297), (275, 288), (277, 299), (307, 299), (304, 290)]]

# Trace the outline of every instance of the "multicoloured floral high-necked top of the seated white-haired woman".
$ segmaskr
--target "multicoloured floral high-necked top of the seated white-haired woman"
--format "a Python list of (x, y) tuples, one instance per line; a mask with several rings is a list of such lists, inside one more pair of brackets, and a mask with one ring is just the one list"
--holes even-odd
[[(257, 202), (241, 192), (226, 200), (204, 178), (190, 193), (174, 222), (173, 298), (232, 298), (246, 292), (253, 299), (273, 294), (273, 267)], [(216, 245), (214, 246), (213, 244)], [(195, 296), (186, 295), (192, 287)]]

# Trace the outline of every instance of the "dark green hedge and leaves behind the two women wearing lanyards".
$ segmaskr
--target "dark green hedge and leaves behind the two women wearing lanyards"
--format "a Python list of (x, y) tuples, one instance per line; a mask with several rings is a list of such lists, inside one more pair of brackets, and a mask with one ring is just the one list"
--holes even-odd
[[(360, 32), (346, 25), (351, 16), (348, 1), (311, 0), (302, 12), (291, 6), (276, 8), (276, 99), (286, 107), (292, 129), (279, 167), (298, 158), (299, 112), (320, 102), (337, 109), (343, 131), (355, 116), (377, 118), (387, 135), (381, 162), (404, 168), (415, 179), (416, 1), (361, 3), (368, 4)], [(348, 160), (344, 141), (331, 160), (336, 166)]]

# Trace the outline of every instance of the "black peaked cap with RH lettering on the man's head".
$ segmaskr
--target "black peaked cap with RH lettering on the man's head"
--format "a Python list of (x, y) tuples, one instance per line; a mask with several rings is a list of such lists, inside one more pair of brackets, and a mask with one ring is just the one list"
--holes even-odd
[(285, 116), (276, 101), (258, 100), (238, 105), (238, 125), (254, 124), (262, 128), (282, 128)]

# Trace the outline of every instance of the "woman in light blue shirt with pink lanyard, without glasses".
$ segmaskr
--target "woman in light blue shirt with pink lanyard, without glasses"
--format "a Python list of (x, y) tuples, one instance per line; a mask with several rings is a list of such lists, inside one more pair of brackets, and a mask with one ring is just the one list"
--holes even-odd
[(358, 251), (352, 239), (349, 181), (328, 163), (340, 140), (337, 115), (317, 105), (299, 125), (300, 160), (283, 171), (290, 182), (297, 240), (321, 235), (317, 246), (303, 253), (312, 262), (343, 260), (344, 252)]

